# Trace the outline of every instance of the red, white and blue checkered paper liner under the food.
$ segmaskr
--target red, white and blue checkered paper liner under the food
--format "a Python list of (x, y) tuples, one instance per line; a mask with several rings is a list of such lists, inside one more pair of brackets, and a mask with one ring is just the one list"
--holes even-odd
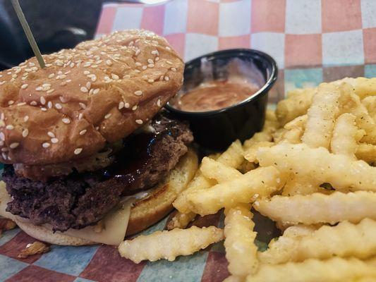
[[(172, 0), (166, 4), (106, 4), (97, 37), (144, 28), (166, 39), (186, 60), (220, 49), (252, 48), (277, 61), (279, 78), (269, 102), (296, 87), (345, 76), (376, 77), (375, 0)], [(222, 214), (198, 226), (223, 224)], [(142, 232), (161, 230), (167, 219)], [(15, 229), (0, 238), (0, 281), (222, 281), (223, 243), (175, 262), (133, 264), (116, 247), (52, 246), (18, 259), (33, 238)]]

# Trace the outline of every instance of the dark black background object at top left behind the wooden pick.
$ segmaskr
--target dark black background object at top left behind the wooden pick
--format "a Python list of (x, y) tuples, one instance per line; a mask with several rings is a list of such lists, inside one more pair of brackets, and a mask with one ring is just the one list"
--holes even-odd
[[(20, 0), (42, 54), (92, 39), (102, 0)], [(0, 70), (34, 56), (11, 1), (0, 0)]]

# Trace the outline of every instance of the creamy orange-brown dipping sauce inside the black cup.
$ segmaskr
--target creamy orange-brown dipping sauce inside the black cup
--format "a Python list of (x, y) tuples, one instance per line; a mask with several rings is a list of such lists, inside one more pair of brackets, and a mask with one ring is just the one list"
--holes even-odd
[(248, 82), (212, 81), (181, 94), (174, 107), (181, 111), (214, 111), (238, 104), (260, 87)]

